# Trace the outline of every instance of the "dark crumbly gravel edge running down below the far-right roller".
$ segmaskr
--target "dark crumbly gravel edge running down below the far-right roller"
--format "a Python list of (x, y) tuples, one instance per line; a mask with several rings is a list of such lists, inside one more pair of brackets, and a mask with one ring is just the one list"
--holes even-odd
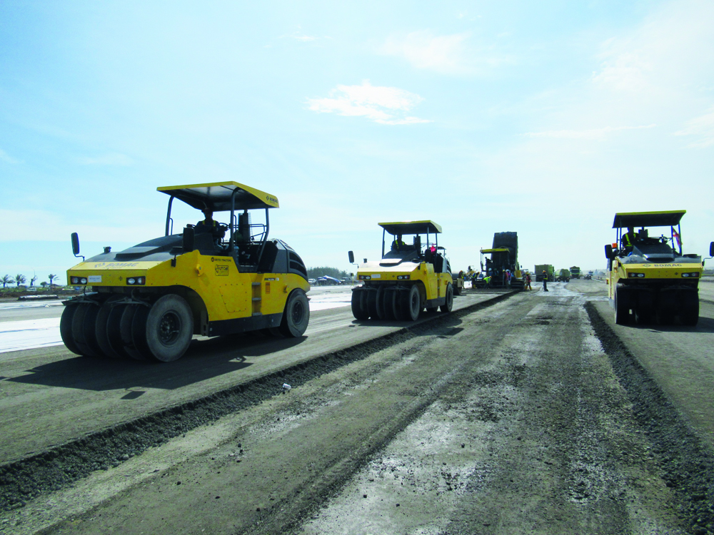
[(592, 302), (585, 305), (590, 324), (633, 404), (663, 479), (680, 501), (680, 517), (695, 535), (714, 534), (714, 454), (655, 380), (625, 347)]

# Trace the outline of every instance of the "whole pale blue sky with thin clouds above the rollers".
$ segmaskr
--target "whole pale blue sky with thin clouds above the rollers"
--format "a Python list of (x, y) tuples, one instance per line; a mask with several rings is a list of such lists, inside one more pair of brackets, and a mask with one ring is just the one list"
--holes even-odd
[[(710, 1), (0, 4), (0, 276), (164, 233), (156, 187), (273, 193), (308, 266), (432, 219), (452, 267), (603, 267), (618, 211), (714, 240)], [(183, 222), (198, 220), (186, 210)]]

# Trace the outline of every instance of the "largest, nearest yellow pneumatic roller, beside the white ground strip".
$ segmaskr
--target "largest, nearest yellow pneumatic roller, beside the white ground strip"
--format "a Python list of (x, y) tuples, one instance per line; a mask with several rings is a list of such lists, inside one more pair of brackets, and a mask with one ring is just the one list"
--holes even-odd
[[(278, 199), (236, 182), (158, 190), (169, 195), (164, 236), (119, 253), (106, 247), (67, 271), (70, 285), (85, 287), (64, 302), (60, 331), (67, 348), (89, 357), (169, 362), (186, 352), (193, 335), (302, 336), (310, 318), (305, 264), (285, 242), (268, 240), (268, 210), (278, 208)], [(186, 225), (174, 234), (174, 199), (228, 212), (229, 223)], [(265, 223), (251, 222), (253, 209), (265, 210)], [(80, 256), (76, 233), (72, 248)]]

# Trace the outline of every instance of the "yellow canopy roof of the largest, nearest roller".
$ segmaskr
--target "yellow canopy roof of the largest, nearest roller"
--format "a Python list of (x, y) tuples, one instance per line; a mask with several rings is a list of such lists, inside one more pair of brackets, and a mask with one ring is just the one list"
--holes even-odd
[(184, 203), (203, 210), (226, 212), (231, 210), (231, 195), (236, 191), (236, 210), (251, 208), (278, 208), (278, 198), (275, 195), (256, 190), (237, 182), (212, 182), (208, 184), (166, 185), (156, 188), (166, 195), (172, 195)]

